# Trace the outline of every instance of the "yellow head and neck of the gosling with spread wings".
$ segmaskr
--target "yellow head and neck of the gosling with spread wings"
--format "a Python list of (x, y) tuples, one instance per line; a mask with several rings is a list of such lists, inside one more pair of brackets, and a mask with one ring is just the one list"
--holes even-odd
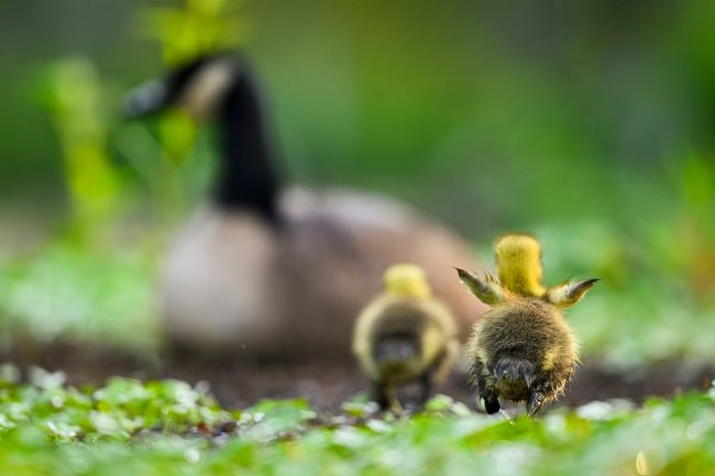
[(494, 244), (502, 286), (521, 296), (541, 297), (541, 245), (527, 234), (508, 234)]

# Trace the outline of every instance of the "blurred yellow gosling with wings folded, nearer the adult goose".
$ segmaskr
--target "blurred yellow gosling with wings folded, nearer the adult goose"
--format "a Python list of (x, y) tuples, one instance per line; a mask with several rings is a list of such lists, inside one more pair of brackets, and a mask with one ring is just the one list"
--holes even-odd
[(353, 352), (375, 386), (381, 408), (399, 412), (399, 385), (419, 380), (424, 403), (431, 396), (433, 381), (449, 375), (459, 350), (457, 323), (432, 296), (419, 266), (393, 265), (383, 280), (384, 291), (355, 322)]

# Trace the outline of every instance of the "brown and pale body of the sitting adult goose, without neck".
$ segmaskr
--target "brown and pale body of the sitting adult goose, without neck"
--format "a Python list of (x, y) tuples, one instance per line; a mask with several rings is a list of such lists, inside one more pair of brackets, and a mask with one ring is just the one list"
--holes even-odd
[(395, 262), (419, 265), (466, 342), (485, 307), (444, 263), (473, 259), (447, 228), (378, 195), (290, 188), (279, 232), (250, 211), (205, 209), (175, 240), (161, 311), (169, 342), (268, 361), (349, 358), (355, 316)]

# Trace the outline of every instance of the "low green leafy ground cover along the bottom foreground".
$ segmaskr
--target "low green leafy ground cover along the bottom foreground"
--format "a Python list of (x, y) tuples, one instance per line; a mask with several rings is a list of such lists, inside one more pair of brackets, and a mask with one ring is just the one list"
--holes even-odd
[(112, 378), (70, 388), (34, 369), (0, 385), (0, 473), (13, 475), (715, 474), (715, 387), (671, 401), (592, 402), (538, 421), (471, 412), (448, 397), (405, 418), (354, 400), (221, 409), (205, 386)]

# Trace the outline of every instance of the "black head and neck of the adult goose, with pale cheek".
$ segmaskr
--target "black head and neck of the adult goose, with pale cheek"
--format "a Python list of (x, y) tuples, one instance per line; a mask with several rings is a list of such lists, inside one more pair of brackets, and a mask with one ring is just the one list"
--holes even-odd
[(177, 107), (194, 119), (213, 119), (220, 153), (213, 202), (277, 223), (280, 180), (258, 92), (248, 62), (234, 53), (219, 53), (195, 58), (130, 91), (124, 113), (141, 118)]

